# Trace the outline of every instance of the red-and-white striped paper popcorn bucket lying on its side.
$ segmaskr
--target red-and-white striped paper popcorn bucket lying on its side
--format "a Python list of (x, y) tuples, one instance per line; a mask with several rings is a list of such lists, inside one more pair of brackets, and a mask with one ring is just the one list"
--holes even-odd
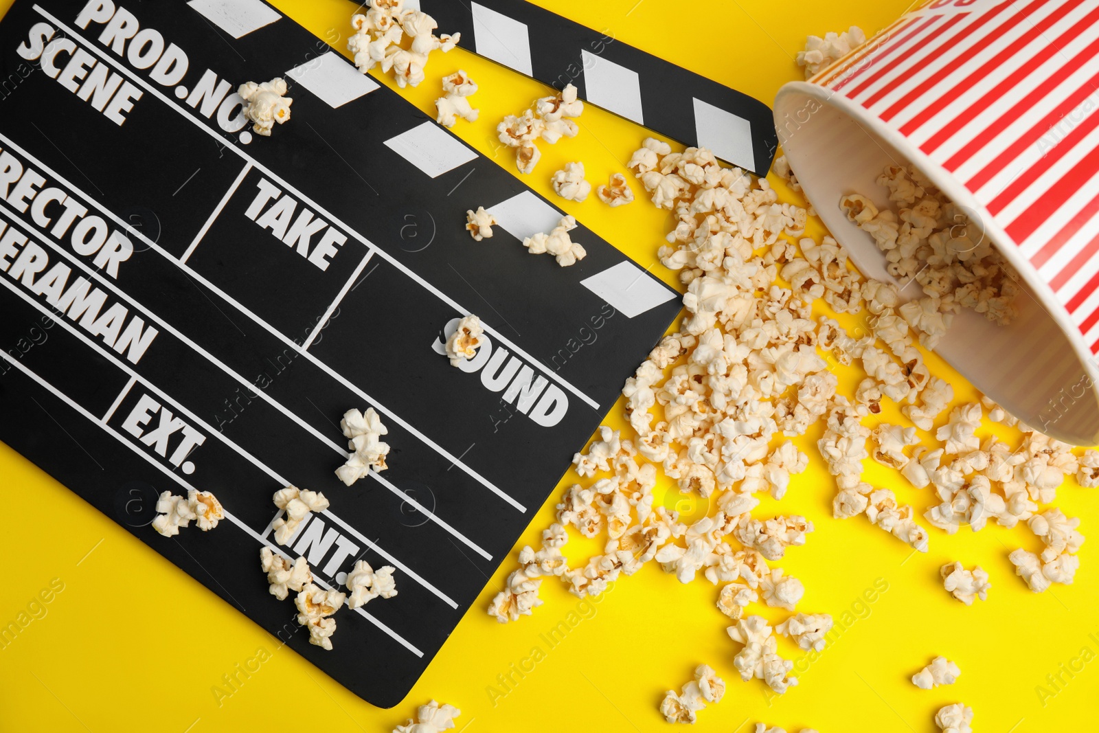
[(1018, 316), (963, 309), (936, 352), (1076, 445), (1099, 443), (1097, 90), (1095, 0), (928, 0), (775, 100), (790, 168), (867, 277), (897, 282), (839, 201), (887, 208), (887, 165), (914, 165), (967, 212), (1019, 274)]

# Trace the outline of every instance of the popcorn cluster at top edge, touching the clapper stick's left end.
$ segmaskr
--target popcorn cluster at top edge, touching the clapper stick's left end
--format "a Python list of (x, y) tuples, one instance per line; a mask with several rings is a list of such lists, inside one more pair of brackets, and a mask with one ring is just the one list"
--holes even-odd
[[(365, 15), (353, 15), (351, 25), (355, 33), (347, 40), (347, 49), (354, 54), (358, 70), (366, 74), (375, 65), (381, 67), (382, 74), (392, 69), (401, 89), (423, 81), (431, 52), (440, 49), (445, 54), (462, 38), (460, 33), (436, 36), (435, 19), (406, 9), (403, 0), (370, 0), (370, 9)], [(408, 47), (402, 45), (406, 36), (411, 41)]]

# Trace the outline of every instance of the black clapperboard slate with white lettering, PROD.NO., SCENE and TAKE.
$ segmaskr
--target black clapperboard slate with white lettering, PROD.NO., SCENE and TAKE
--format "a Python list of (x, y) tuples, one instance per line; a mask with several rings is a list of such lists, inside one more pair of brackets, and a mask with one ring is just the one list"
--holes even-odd
[[(582, 224), (577, 265), (528, 254), (519, 238), (553, 225), (552, 203), (259, 0), (110, 11), (18, 0), (0, 22), (0, 438), (395, 706), (678, 293)], [(154, 65), (173, 55), (180, 78)], [(234, 93), (277, 76), (292, 120), (260, 137)], [(485, 242), (464, 230), (477, 206), (501, 219)], [(433, 345), (469, 312), (490, 342), (459, 369)], [(338, 421), (368, 406), (389, 469), (347, 488)], [(286, 484), (331, 508), (277, 547)], [(225, 520), (160, 536), (157, 495), (189, 487)], [(265, 544), (304, 554), (325, 587), (358, 558), (393, 565), (399, 595), (342, 609), (324, 651), (269, 595)]]

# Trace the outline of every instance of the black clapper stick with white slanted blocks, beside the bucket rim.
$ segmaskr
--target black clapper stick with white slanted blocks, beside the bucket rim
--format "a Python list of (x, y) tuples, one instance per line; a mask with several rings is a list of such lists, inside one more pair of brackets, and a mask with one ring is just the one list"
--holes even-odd
[(709, 147), (756, 176), (778, 148), (770, 108), (744, 92), (676, 66), (524, 0), (406, 0), (460, 32), (476, 54), (673, 137)]

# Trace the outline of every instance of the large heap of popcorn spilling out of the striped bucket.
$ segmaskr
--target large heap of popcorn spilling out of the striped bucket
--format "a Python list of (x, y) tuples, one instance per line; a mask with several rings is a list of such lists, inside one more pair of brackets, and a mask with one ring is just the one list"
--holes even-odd
[[(781, 159), (776, 163), (781, 165)], [(922, 349), (941, 338), (962, 307), (993, 321), (1010, 319), (1012, 312), (1010, 278), (1003, 269), (996, 270), (999, 275), (989, 269), (998, 265), (987, 245), (973, 236), (977, 246), (972, 253), (944, 257), (951, 242), (957, 244), (970, 232), (954, 222), (954, 238), (943, 237), (951, 226), (940, 223), (957, 213), (953, 204), (935, 199), (936, 218), (898, 215), (893, 229), (888, 214), (862, 203), (850, 208), (856, 219), (863, 218), (861, 225), (876, 222), (870, 229), (879, 243), (888, 243), (895, 231), (892, 248), (884, 248), (887, 257), (902, 244), (906, 248), (903, 257), (890, 263), (906, 268), (930, 263), (929, 271), (942, 270), (933, 281), (921, 281), (925, 298), (902, 304), (896, 285), (863, 278), (835, 240), (806, 236), (806, 209), (780, 201), (766, 179), (722, 167), (709, 151), (673, 152), (650, 137), (629, 168), (653, 204), (674, 218), (658, 256), (686, 287), (686, 314), (678, 331), (665, 336), (623, 386), (630, 430), (599, 429), (590, 446), (574, 456), (581, 482), (569, 486), (556, 504), (554, 526), (562, 544), (571, 526), (586, 537), (604, 537), (602, 553), (569, 566), (544, 546), (540, 552), (551, 560), (550, 571), (524, 547), (520, 569), (493, 599), (491, 615), (500, 621), (530, 615), (542, 604), (539, 589), (550, 576), (584, 598), (655, 562), (680, 582), (702, 577), (717, 587), (717, 607), (734, 624), (728, 631), (739, 645), (734, 666), (740, 676), (785, 692), (797, 679), (790, 677), (793, 662), (780, 653), (780, 644), (820, 652), (833, 620), (826, 613), (799, 612), (803, 585), (769, 565), (787, 552), (799, 552), (792, 548), (807, 544), (812, 522), (792, 511), (753, 512), (758, 495), (784, 500), (790, 493), (791, 477), (810, 460), (792, 438), (818, 425), (812, 433), (815, 453), (834, 479), (835, 519), (862, 514), (895, 541), (923, 553), (930, 546), (928, 525), (953, 534), (963, 525), (977, 532), (990, 522), (1004, 527), (1026, 522), (1045, 551), (1011, 553), (1017, 573), (1035, 591), (1054, 581), (1072, 582), (1084, 540), (1078, 521), (1054, 508), (1039, 508), (1055, 500), (1066, 476), (1099, 484), (1099, 452), (1077, 457), (1070, 446), (1019, 423), (988, 398), (954, 406), (953, 388), (933, 376), (924, 360)], [(785, 169), (782, 177), (797, 188), (793, 173), (788, 165)], [(891, 197), (906, 206), (939, 196), (914, 171), (884, 178), (891, 184), (882, 182)], [(978, 280), (977, 290), (966, 289)], [(939, 293), (937, 301), (929, 289)], [(970, 302), (974, 292), (978, 295)], [(817, 312), (819, 304), (863, 314), (865, 327), (848, 333), (834, 318)], [(854, 389), (841, 391), (834, 364), (861, 370)], [(895, 421), (900, 424), (877, 417), (888, 403), (903, 415)], [(986, 417), (1018, 426), (1021, 437), (1010, 443), (979, 437)], [(915, 508), (891, 488), (864, 480), (868, 458), (897, 471), (895, 486), (907, 481), (908, 496), (913, 496), (911, 489), (930, 489), (924, 495), (930, 499)], [(681, 521), (677, 512), (655, 504), (658, 480), (671, 496), (678, 489), (704, 500), (708, 515)], [(980, 568), (952, 564), (943, 578), (963, 602), (987, 596), (988, 576)], [(791, 614), (773, 628), (750, 612), (755, 602)], [(953, 663), (941, 658), (918, 673), (913, 684), (951, 684), (957, 674)], [(666, 698), (662, 712), (690, 718), (690, 704), (680, 697)], [(944, 709), (942, 720), (956, 726), (947, 730), (968, 730), (967, 710)]]

